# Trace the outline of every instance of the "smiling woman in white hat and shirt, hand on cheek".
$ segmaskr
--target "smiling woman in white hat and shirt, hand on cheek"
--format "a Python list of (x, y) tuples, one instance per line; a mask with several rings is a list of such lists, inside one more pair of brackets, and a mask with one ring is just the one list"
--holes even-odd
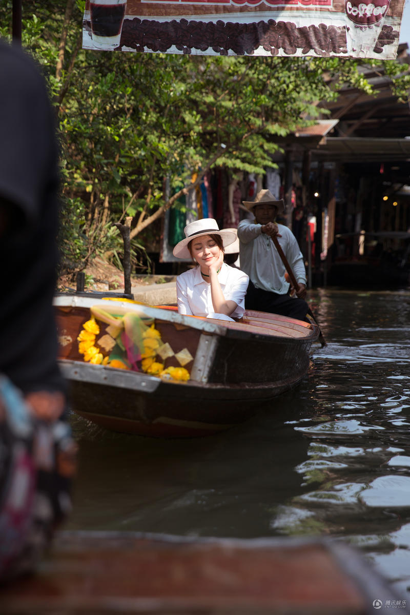
[(219, 231), (213, 218), (195, 220), (184, 228), (185, 239), (176, 244), (174, 256), (197, 263), (176, 279), (179, 314), (222, 320), (242, 318), (249, 278), (224, 263), (224, 247), (233, 244), (236, 233)]

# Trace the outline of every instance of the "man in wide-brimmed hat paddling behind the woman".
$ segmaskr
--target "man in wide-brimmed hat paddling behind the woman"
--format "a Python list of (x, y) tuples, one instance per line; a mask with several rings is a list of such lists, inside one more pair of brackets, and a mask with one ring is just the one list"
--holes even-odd
[[(261, 190), (254, 201), (243, 201), (243, 205), (254, 215), (254, 220), (242, 220), (238, 225), (240, 268), (250, 279), (245, 308), (314, 322), (304, 301), (306, 269), (298, 242), (287, 226), (275, 222), (278, 213), (284, 211), (283, 200), (275, 199), (269, 190)], [(298, 282), (297, 290), (286, 279), (285, 265), (272, 237), (277, 237), (282, 247)]]

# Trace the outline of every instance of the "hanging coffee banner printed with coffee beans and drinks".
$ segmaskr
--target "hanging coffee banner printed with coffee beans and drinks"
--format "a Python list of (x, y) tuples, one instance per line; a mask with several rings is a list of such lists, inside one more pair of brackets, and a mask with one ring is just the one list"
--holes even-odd
[(84, 49), (393, 59), (405, 0), (87, 0)]

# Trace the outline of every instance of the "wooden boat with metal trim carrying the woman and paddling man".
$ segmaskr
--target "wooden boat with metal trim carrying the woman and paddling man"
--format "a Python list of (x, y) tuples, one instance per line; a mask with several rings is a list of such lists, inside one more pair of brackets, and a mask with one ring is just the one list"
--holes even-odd
[[(319, 333), (316, 325), (264, 312), (247, 311), (242, 322), (228, 322), (181, 315), (170, 306), (75, 295), (57, 296), (54, 305), (73, 410), (102, 427), (154, 437), (215, 434), (241, 423), (301, 381)], [(189, 380), (85, 363), (77, 336), (98, 306), (154, 323), (173, 352), (165, 368), (178, 367), (181, 351), (191, 356), (184, 365)]]

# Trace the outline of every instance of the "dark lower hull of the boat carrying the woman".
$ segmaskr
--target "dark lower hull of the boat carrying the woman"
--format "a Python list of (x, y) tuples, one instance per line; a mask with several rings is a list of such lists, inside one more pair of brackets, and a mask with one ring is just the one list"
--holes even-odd
[[(297, 386), (306, 373), (256, 385), (160, 382), (149, 391), (137, 388), (136, 382), (117, 386), (112, 377), (84, 381), (78, 377), (83, 367), (78, 362), (60, 360), (60, 367), (69, 381), (71, 407), (83, 418), (112, 431), (179, 438), (212, 435), (243, 423), (272, 406), (275, 397)], [(135, 381), (144, 379), (135, 376)]]

